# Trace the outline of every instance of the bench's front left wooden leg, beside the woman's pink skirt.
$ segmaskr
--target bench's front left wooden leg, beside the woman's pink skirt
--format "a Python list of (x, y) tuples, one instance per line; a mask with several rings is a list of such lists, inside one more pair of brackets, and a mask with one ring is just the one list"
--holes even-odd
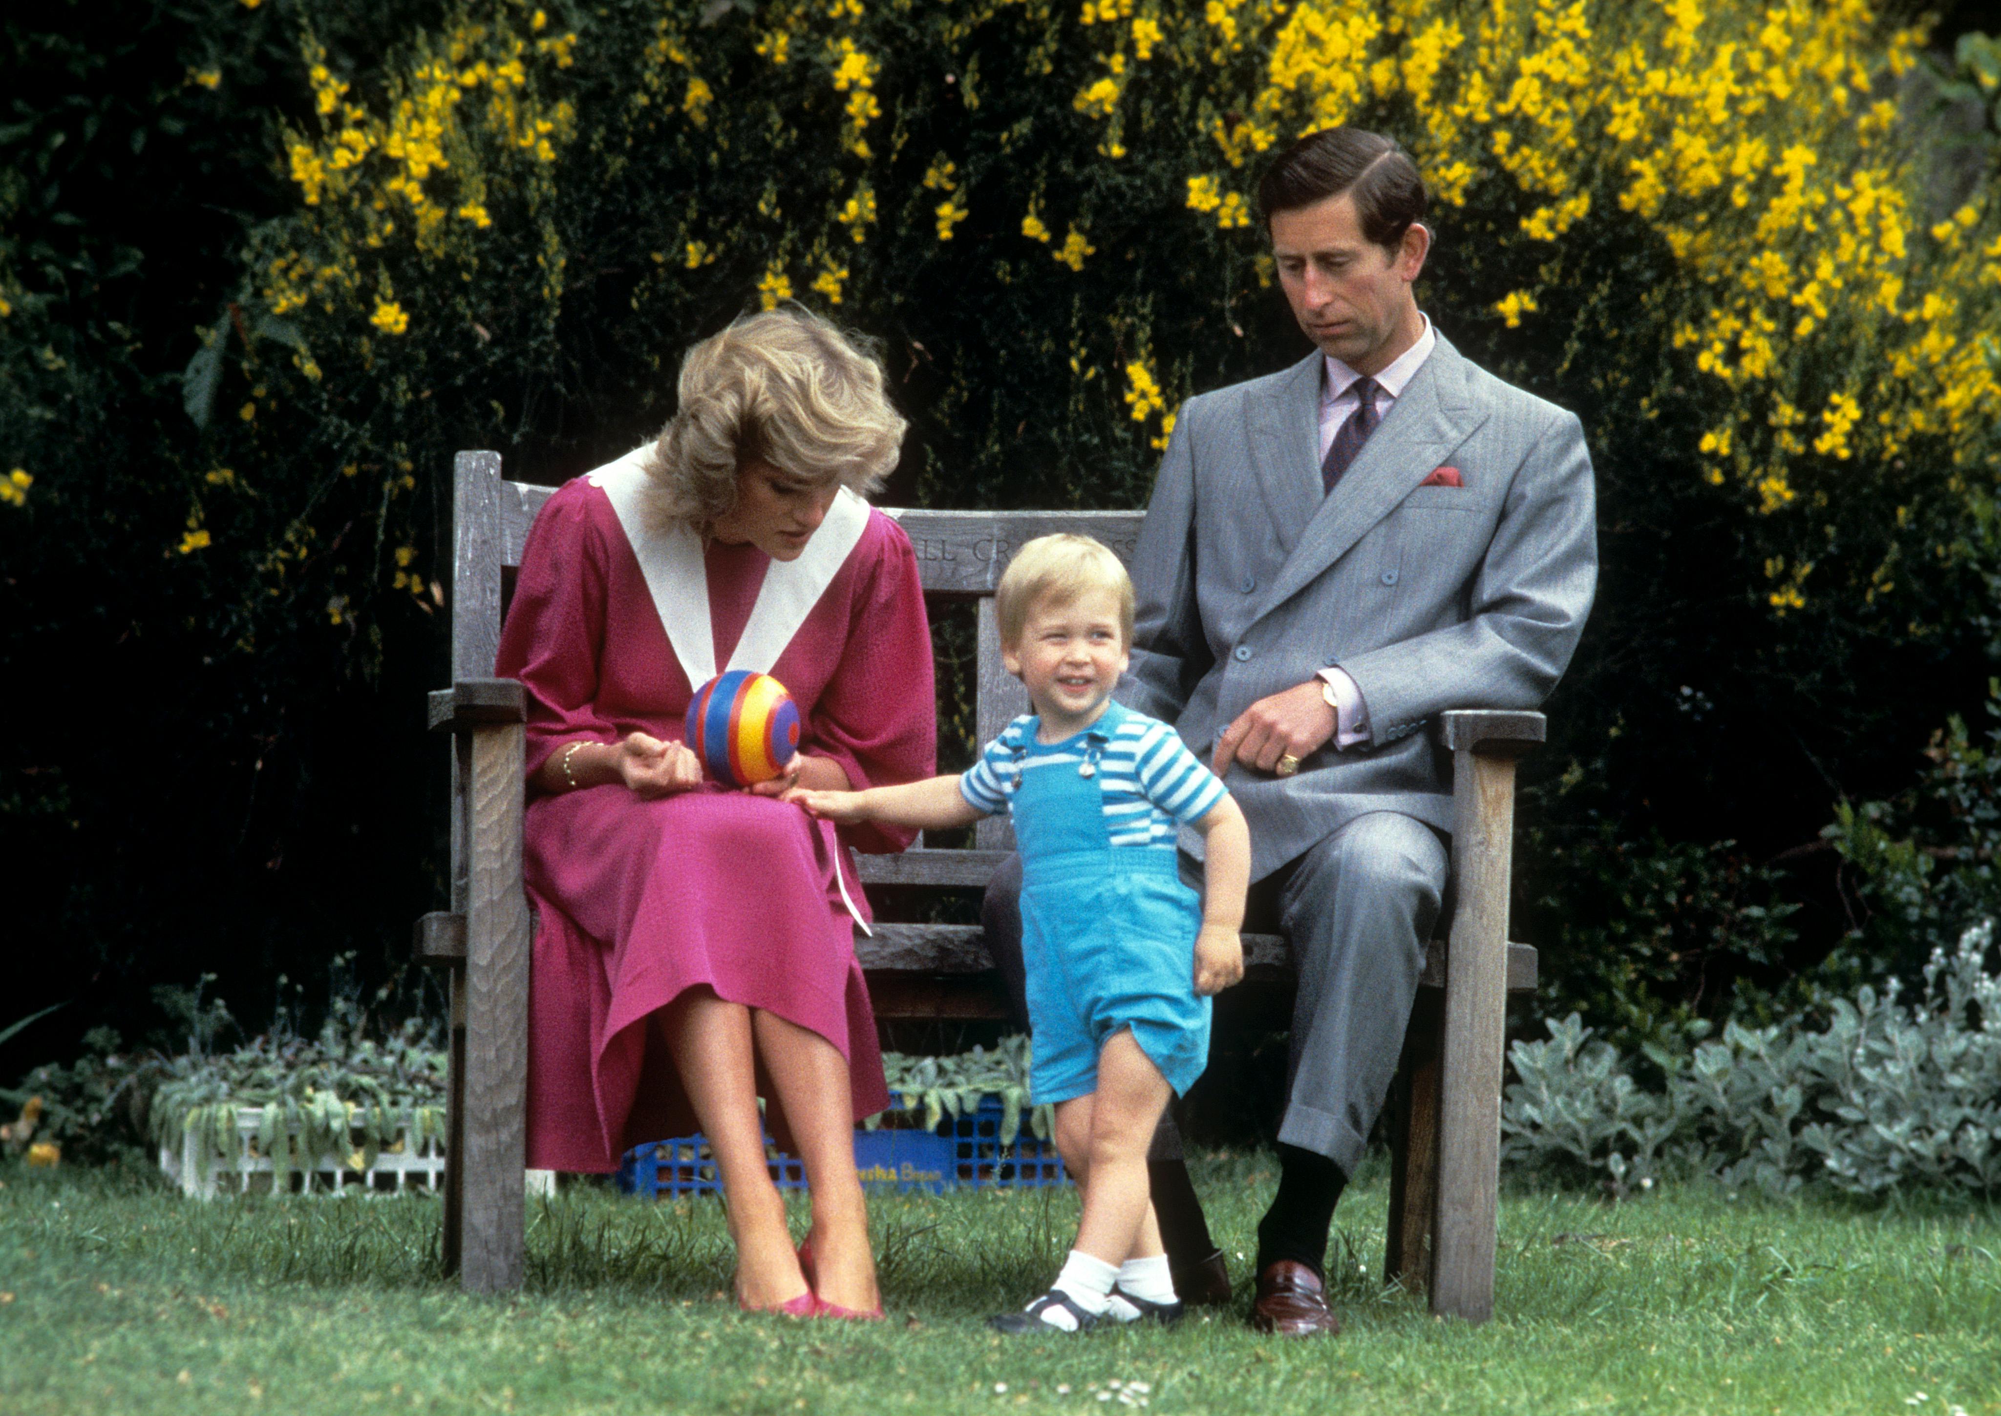
[(520, 1286), (528, 1140), (528, 900), (520, 882), (520, 724), (472, 730), (472, 870), (466, 908), (464, 1188), (458, 1278), (466, 1292)]

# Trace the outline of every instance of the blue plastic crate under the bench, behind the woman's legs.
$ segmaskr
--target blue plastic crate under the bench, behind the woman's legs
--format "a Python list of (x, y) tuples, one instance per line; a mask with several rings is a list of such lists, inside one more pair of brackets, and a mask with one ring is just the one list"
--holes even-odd
[[(1031, 1188), (1069, 1184), (1057, 1146), (1037, 1140), (1027, 1126), (1011, 1146), (1000, 1144), (1000, 1102), (986, 1098), (968, 1116), (946, 1116), (932, 1130), (856, 1130), (854, 1166), (864, 1186), (942, 1192), (948, 1186)], [(806, 1186), (804, 1166), (764, 1144), (772, 1184), (780, 1190)], [(648, 1200), (682, 1194), (714, 1194), (716, 1162), (702, 1136), (634, 1146), (618, 1170), (618, 1188)]]

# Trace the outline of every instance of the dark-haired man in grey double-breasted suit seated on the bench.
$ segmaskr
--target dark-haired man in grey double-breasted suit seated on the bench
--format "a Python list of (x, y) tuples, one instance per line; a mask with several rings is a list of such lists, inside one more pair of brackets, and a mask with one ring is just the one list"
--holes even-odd
[[(1311, 1336), (1339, 1328), (1323, 1296), (1333, 1210), (1445, 896), (1451, 754), (1423, 728), (1549, 696), (1591, 610), (1597, 532), (1577, 418), (1467, 360), (1417, 308), (1427, 198), (1393, 140), (1309, 134), (1259, 200), (1317, 348), (1183, 404), (1133, 562), (1119, 700), (1213, 754), (1251, 822), (1255, 898), (1291, 940), (1281, 1178), (1251, 1320)], [(1009, 904), (996, 880), (1005, 970)], [(1179, 1156), (1163, 1142), (1157, 1156)], [(1185, 1176), (1157, 1162), (1155, 1204), (1177, 1272), (1201, 1284), (1219, 1256), (1195, 1252), (1209, 1234), (1177, 1198), (1193, 1198)]]

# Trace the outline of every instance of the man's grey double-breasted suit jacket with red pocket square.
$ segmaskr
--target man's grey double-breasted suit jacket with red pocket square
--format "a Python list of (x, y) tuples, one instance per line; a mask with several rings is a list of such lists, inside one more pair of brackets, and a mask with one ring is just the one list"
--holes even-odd
[[(1539, 706), (1597, 588), (1573, 414), (1441, 334), (1323, 496), (1319, 408), (1319, 352), (1183, 404), (1133, 558), (1119, 700), (1177, 724), (1205, 762), (1245, 708), (1321, 668), (1361, 688), (1367, 742), (1329, 744), (1291, 778), (1231, 768), (1253, 878), (1367, 812), (1451, 830), (1451, 752), (1419, 730), (1447, 708)], [(1439, 468), (1461, 486), (1437, 484)]]

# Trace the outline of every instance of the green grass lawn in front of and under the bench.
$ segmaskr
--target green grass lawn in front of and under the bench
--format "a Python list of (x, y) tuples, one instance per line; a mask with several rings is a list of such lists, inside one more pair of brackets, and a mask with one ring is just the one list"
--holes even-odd
[[(1497, 1320), (1379, 1284), (1387, 1184), (1343, 1200), (1347, 1332), (1003, 1340), (1055, 1272), (1069, 1192), (876, 1196), (886, 1324), (740, 1316), (720, 1206), (578, 1188), (530, 1210), (528, 1284), (460, 1296), (438, 1210), (404, 1200), (190, 1202), (0, 1170), (0, 1412), (2001, 1412), (2001, 1214), (1509, 1194)], [(1275, 1184), (1199, 1162), (1233, 1272)], [(1241, 1284), (1243, 1292), (1245, 1284)]]

